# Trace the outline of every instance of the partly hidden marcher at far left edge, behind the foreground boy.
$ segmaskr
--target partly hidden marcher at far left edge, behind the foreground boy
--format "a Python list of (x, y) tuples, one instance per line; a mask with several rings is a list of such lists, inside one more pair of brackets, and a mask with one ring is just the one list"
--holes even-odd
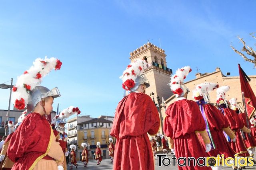
[(0, 170), (11, 170), (12, 166), (14, 165), (14, 162), (12, 162), (7, 155), (7, 149), (10, 143), (10, 139), (13, 135), (13, 132), (18, 128), (18, 126), (21, 124), (21, 122), (23, 121), (23, 119), (25, 118), (25, 114), (27, 113), (27, 111), (23, 111), (22, 114), (20, 115), (20, 117), (18, 118), (18, 123), (16, 123), (16, 125), (14, 126), (14, 124), (12, 123), (12, 121), (9, 121), (8, 126), (9, 126), (9, 135), (7, 136), (6, 140), (4, 141), (4, 145), (2, 148), (2, 151), (0, 153)]

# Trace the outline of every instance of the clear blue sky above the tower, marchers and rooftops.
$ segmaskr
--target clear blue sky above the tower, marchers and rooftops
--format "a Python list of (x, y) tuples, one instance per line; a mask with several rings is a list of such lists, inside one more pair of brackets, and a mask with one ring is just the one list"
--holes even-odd
[[(242, 48), (237, 36), (255, 48), (256, 1), (137, 1), (137, 0), (0, 0), (0, 83), (28, 69), (40, 57), (56, 57), (62, 68), (43, 79), (58, 86), (54, 108), (78, 106), (82, 114), (113, 115), (122, 99), (119, 76), (130, 63), (130, 52), (147, 43), (166, 51), (167, 66), (238, 76), (244, 62), (230, 45)], [(0, 89), (0, 109), (8, 108), (10, 90)]]

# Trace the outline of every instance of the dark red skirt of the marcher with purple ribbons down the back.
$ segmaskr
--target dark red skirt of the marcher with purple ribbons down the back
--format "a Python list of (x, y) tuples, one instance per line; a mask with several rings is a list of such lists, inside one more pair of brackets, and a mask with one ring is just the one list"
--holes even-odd
[[(211, 131), (211, 135), (212, 135), (212, 139), (214, 141), (216, 149), (212, 148), (212, 150), (210, 150), (210, 152), (207, 152), (206, 155), (217, 157), (217, 155), (219, 154), (221, 157), (221, 154), (224, 154), (224, 158), (228, 158), (228, 157), (234, 158), (234, 155), (236, 153), (234, 152), (234, 150), (231, 148), (230, 144), (226, 140), (223, 132), (214, 130), (214, 131)], [(201, 138), (201, 143), (204, 144), (202, 137), (200, 138)], [(205, 149), (205, 145), (203, 145), (203, 147)]]

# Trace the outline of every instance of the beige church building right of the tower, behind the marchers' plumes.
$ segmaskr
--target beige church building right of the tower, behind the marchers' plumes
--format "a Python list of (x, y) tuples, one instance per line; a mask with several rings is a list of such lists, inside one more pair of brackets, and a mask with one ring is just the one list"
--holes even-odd
[[(190, 80), (188, 82), (185, 82), (184, 84), (190, 89), (190, 93), (188, 94), (188, 100), (194, 100), (192, 98), (192, 90), (194, 90), (195, 86), (204, 82), (213, 82), (218, 83), (219, 86), (230, 86), (230, 90), (226, 94), (227, 100), (230, 98), (237, 98), (237, 102), (242, 102), (242, 92), (241, 92), (241, 85), (240, 85), (240, 78), (239, 76), (224, 76), (222, 74), (220, 68), (216, 68), (214, 72), (211, 73), (197, 73), (196, 78), (194, 80)], [(251, 81), (250, 86), (254, 93), (256, 93), (256, 75), (255, 76), (249, 76)], [(210, 102), (216, 103), (216, 90), (211, 91), (209, 93), (210, 95)], [(168, 100), (166, 100), (166, 105), (170, 106), (174, 101), (176, 101), (175, 95), (172, 95)]]

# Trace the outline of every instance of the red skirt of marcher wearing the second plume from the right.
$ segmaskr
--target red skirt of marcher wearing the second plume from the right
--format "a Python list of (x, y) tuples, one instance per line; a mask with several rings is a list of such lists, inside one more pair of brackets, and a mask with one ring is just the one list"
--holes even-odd
[(235, 135), (236, 135), (236, 142), (234, 143), (231, 141), (230, 145), (231, 148), (238, 154), (239, 156), (244, 156), (244, 154), (248, 151), (246, 149), (246, 146), (244, 144), (244, 140), (242, 139), (241, 134), (239, 133), (240, 130), (236, 129), (235, 130)]

